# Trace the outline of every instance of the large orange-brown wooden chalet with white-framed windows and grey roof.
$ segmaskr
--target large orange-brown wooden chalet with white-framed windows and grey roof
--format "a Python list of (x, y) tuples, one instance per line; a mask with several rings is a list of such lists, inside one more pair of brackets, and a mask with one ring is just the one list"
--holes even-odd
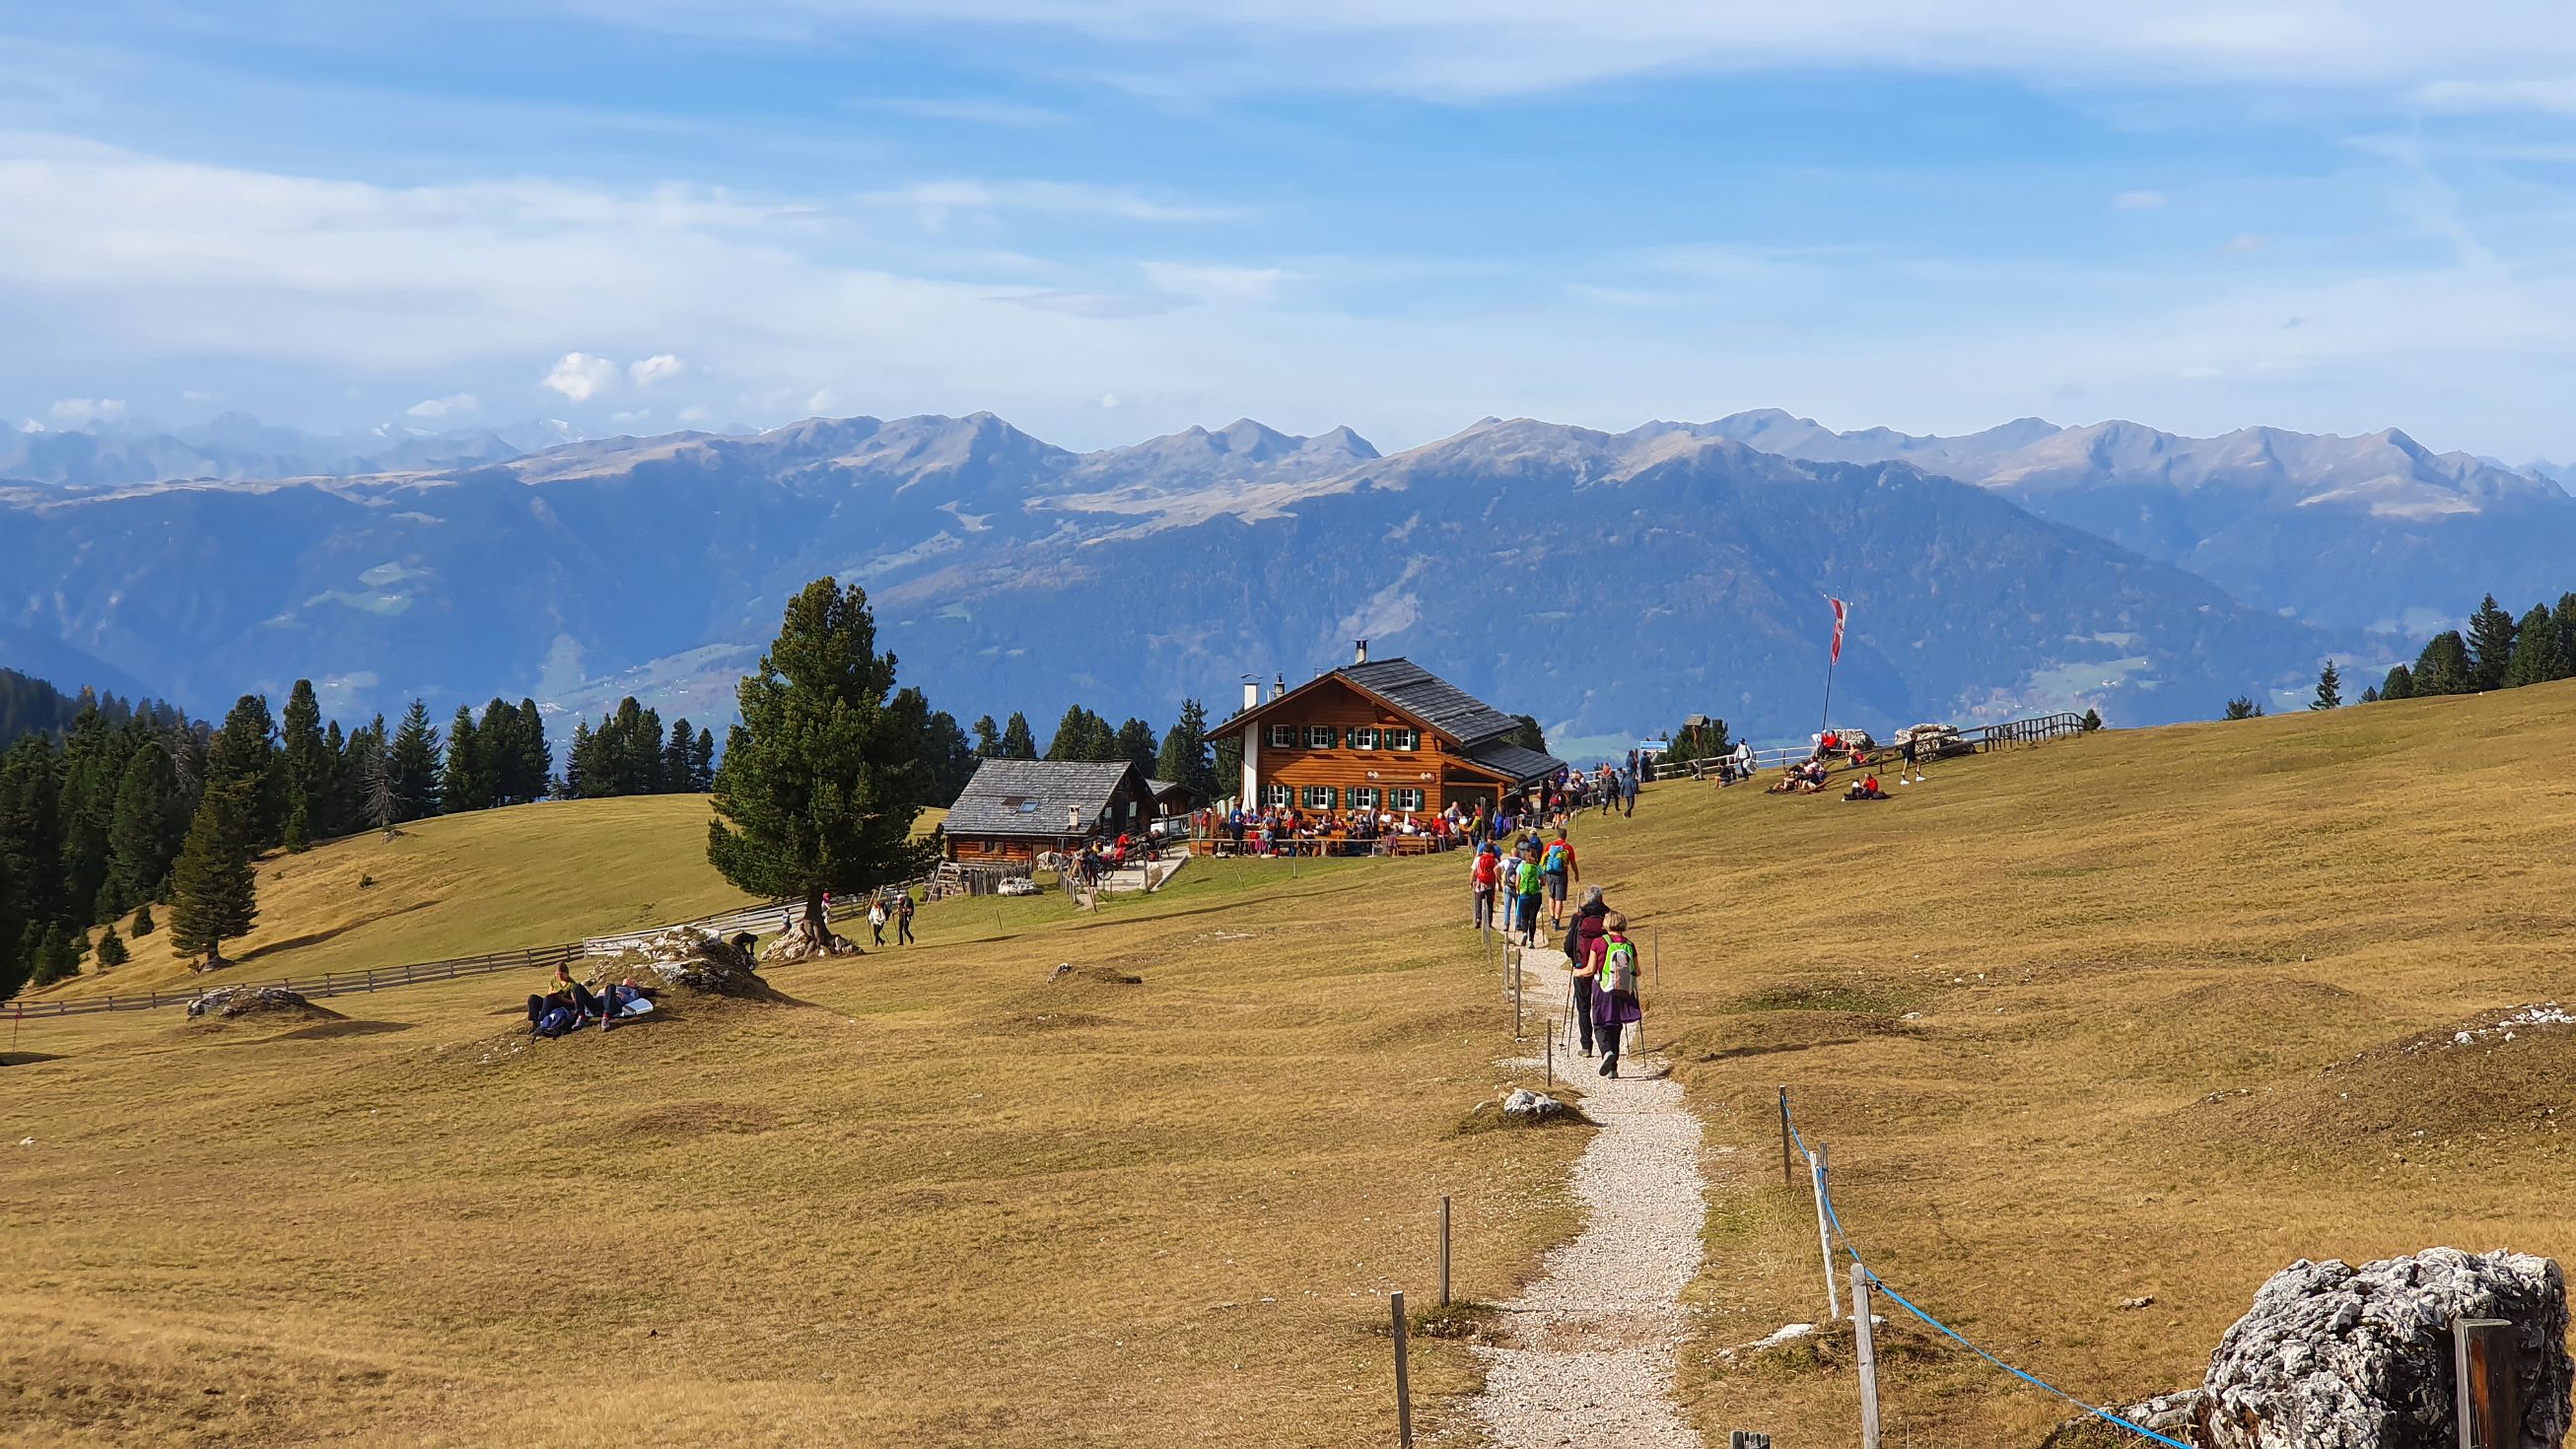
[(1216, 726), (1244, 744), (1244, 808), (1311, 813), (1440, 813), (1453, 803), (1492, 813), (1566, 764), (1512, 744), (1517, 721), (1406, 659), (1350, 667), (1255, 700)]

